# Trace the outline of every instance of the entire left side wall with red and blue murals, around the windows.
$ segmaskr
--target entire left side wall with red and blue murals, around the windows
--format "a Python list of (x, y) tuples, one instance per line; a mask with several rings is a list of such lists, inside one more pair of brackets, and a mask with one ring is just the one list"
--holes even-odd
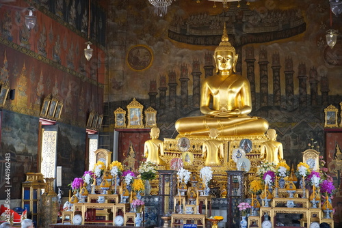
[[(25, 8), (33, 6), (36, 27), (25, 27)], [(10, 154), (12, 199), (21, 198), (27, 172), (37, 172), (42, 102), (49, 94), (64, 103), (57, 123), (57, 165), (64, 167), (63, 189), (83, 174), (86, 124), (90, 111), (103, 114), (105, 11), (92, 3), (90, 40), (93, 57), (83, 54), (88, 41), (88, 1), (12, 1), (0, 5), (0, 84), (15, 89), (14, 100), (0, 106), (0, 176)], [(96, 43), (97, 41), (97, 43)], [(4, 159), (3, 159), (4, 158)], [(22, 168), (24, 167), (24, 169)], [(20, 169), (19, 169), (20, 168)], [(3, 190), (5, 182), (1, 180)], [(0, 198), (3, 195), (0, 196)]]

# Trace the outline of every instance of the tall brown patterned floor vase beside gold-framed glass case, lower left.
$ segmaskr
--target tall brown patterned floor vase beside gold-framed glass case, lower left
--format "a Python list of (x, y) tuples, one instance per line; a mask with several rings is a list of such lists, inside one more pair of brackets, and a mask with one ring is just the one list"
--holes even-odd
[(55, 178), (45, 178), (46, 187), (41, 197), (41, 210), (44, 216), (41, 217), (42, 227), (49, 227), (49, 224), (57, 223), (59, 202), (57, 193), (53, 190), (53, 180)]

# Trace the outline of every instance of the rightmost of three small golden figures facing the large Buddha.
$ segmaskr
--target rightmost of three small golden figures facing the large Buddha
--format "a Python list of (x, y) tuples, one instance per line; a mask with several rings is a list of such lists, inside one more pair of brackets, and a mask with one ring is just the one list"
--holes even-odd
[(269, 140), (265, 141), (261, 145), (260, 158), (269, 163), (274, 162), (274, 164), (277, 165), (281, 160), (284, 159), (282, 143), (276, 141), (277, 134), (276, 130), (274, 129), (267, 130), (266, 136)]

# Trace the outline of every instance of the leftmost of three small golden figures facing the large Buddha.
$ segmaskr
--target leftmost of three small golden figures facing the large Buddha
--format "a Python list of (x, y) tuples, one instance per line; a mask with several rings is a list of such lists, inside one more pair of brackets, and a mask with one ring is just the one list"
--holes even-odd
[(163, 141), (158, 139), (159, 133), (159, 128), (150, 129), (151, 139), (145, 142), (144, 156), (146, 158), (146, 162), (153, 162), (157, 165), (165, 165), (166, 162), (160, 158), (160, 156), (164, 156), (164, 150)]

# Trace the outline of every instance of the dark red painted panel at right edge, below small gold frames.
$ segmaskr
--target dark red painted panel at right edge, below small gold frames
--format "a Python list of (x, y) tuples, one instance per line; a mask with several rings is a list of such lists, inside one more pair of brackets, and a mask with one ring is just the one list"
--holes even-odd
[(334, 180), (337, 193), (332, 199), (335, 206), (337, 202), (342, 203), (342, 128), (324, 129), (326, 138), (326, 167), (328, 175)]

